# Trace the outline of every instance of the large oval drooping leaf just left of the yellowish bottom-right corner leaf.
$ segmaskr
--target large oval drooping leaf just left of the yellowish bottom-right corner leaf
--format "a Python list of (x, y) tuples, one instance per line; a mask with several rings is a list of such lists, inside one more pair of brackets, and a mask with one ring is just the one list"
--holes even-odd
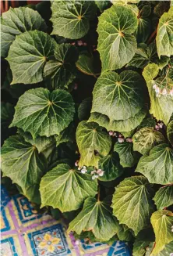
[(127, 225), (137, 235), (150, 223), (153, 191), (143, 176), (125, 178), (115, 189), (112, 205), (113, 214), (120, 224)]

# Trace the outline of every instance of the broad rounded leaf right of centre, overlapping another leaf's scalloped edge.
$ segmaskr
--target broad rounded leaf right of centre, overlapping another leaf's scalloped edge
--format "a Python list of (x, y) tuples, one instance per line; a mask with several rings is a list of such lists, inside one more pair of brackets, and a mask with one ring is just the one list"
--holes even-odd
[(143, 83), (132, 70), (102, 74), (94, 86), (91, 112), (107, 115), (110, 121), (134, 117), (143, 107)]

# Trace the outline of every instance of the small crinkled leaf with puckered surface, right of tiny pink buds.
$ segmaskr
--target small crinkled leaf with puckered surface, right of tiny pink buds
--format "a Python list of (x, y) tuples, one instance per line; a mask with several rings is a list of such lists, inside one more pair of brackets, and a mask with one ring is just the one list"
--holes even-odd
[(158, 144), (166, 142), (161, 132), (154, 131), (152, 127), (144, 127), (132, 136), (133, 150), (147, 156), (150, 150)]

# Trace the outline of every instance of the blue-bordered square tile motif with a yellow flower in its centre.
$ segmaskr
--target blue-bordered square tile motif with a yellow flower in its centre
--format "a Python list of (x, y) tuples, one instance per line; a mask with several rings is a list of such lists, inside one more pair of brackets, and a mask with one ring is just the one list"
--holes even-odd
[(71, 254), (60, 224), (29, 233), (28, 237), (34, 256), (67, 256)]

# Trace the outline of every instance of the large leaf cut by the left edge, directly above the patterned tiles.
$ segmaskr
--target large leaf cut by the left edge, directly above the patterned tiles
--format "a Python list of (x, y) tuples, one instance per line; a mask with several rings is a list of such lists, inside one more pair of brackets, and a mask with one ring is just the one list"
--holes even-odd
[(44, 156), (35, 146), (25, 142), (21, 135), (5, 140), (2, 146), (2, 172), (27, 193), (30, 186), (36, 186), (44, 175)]

